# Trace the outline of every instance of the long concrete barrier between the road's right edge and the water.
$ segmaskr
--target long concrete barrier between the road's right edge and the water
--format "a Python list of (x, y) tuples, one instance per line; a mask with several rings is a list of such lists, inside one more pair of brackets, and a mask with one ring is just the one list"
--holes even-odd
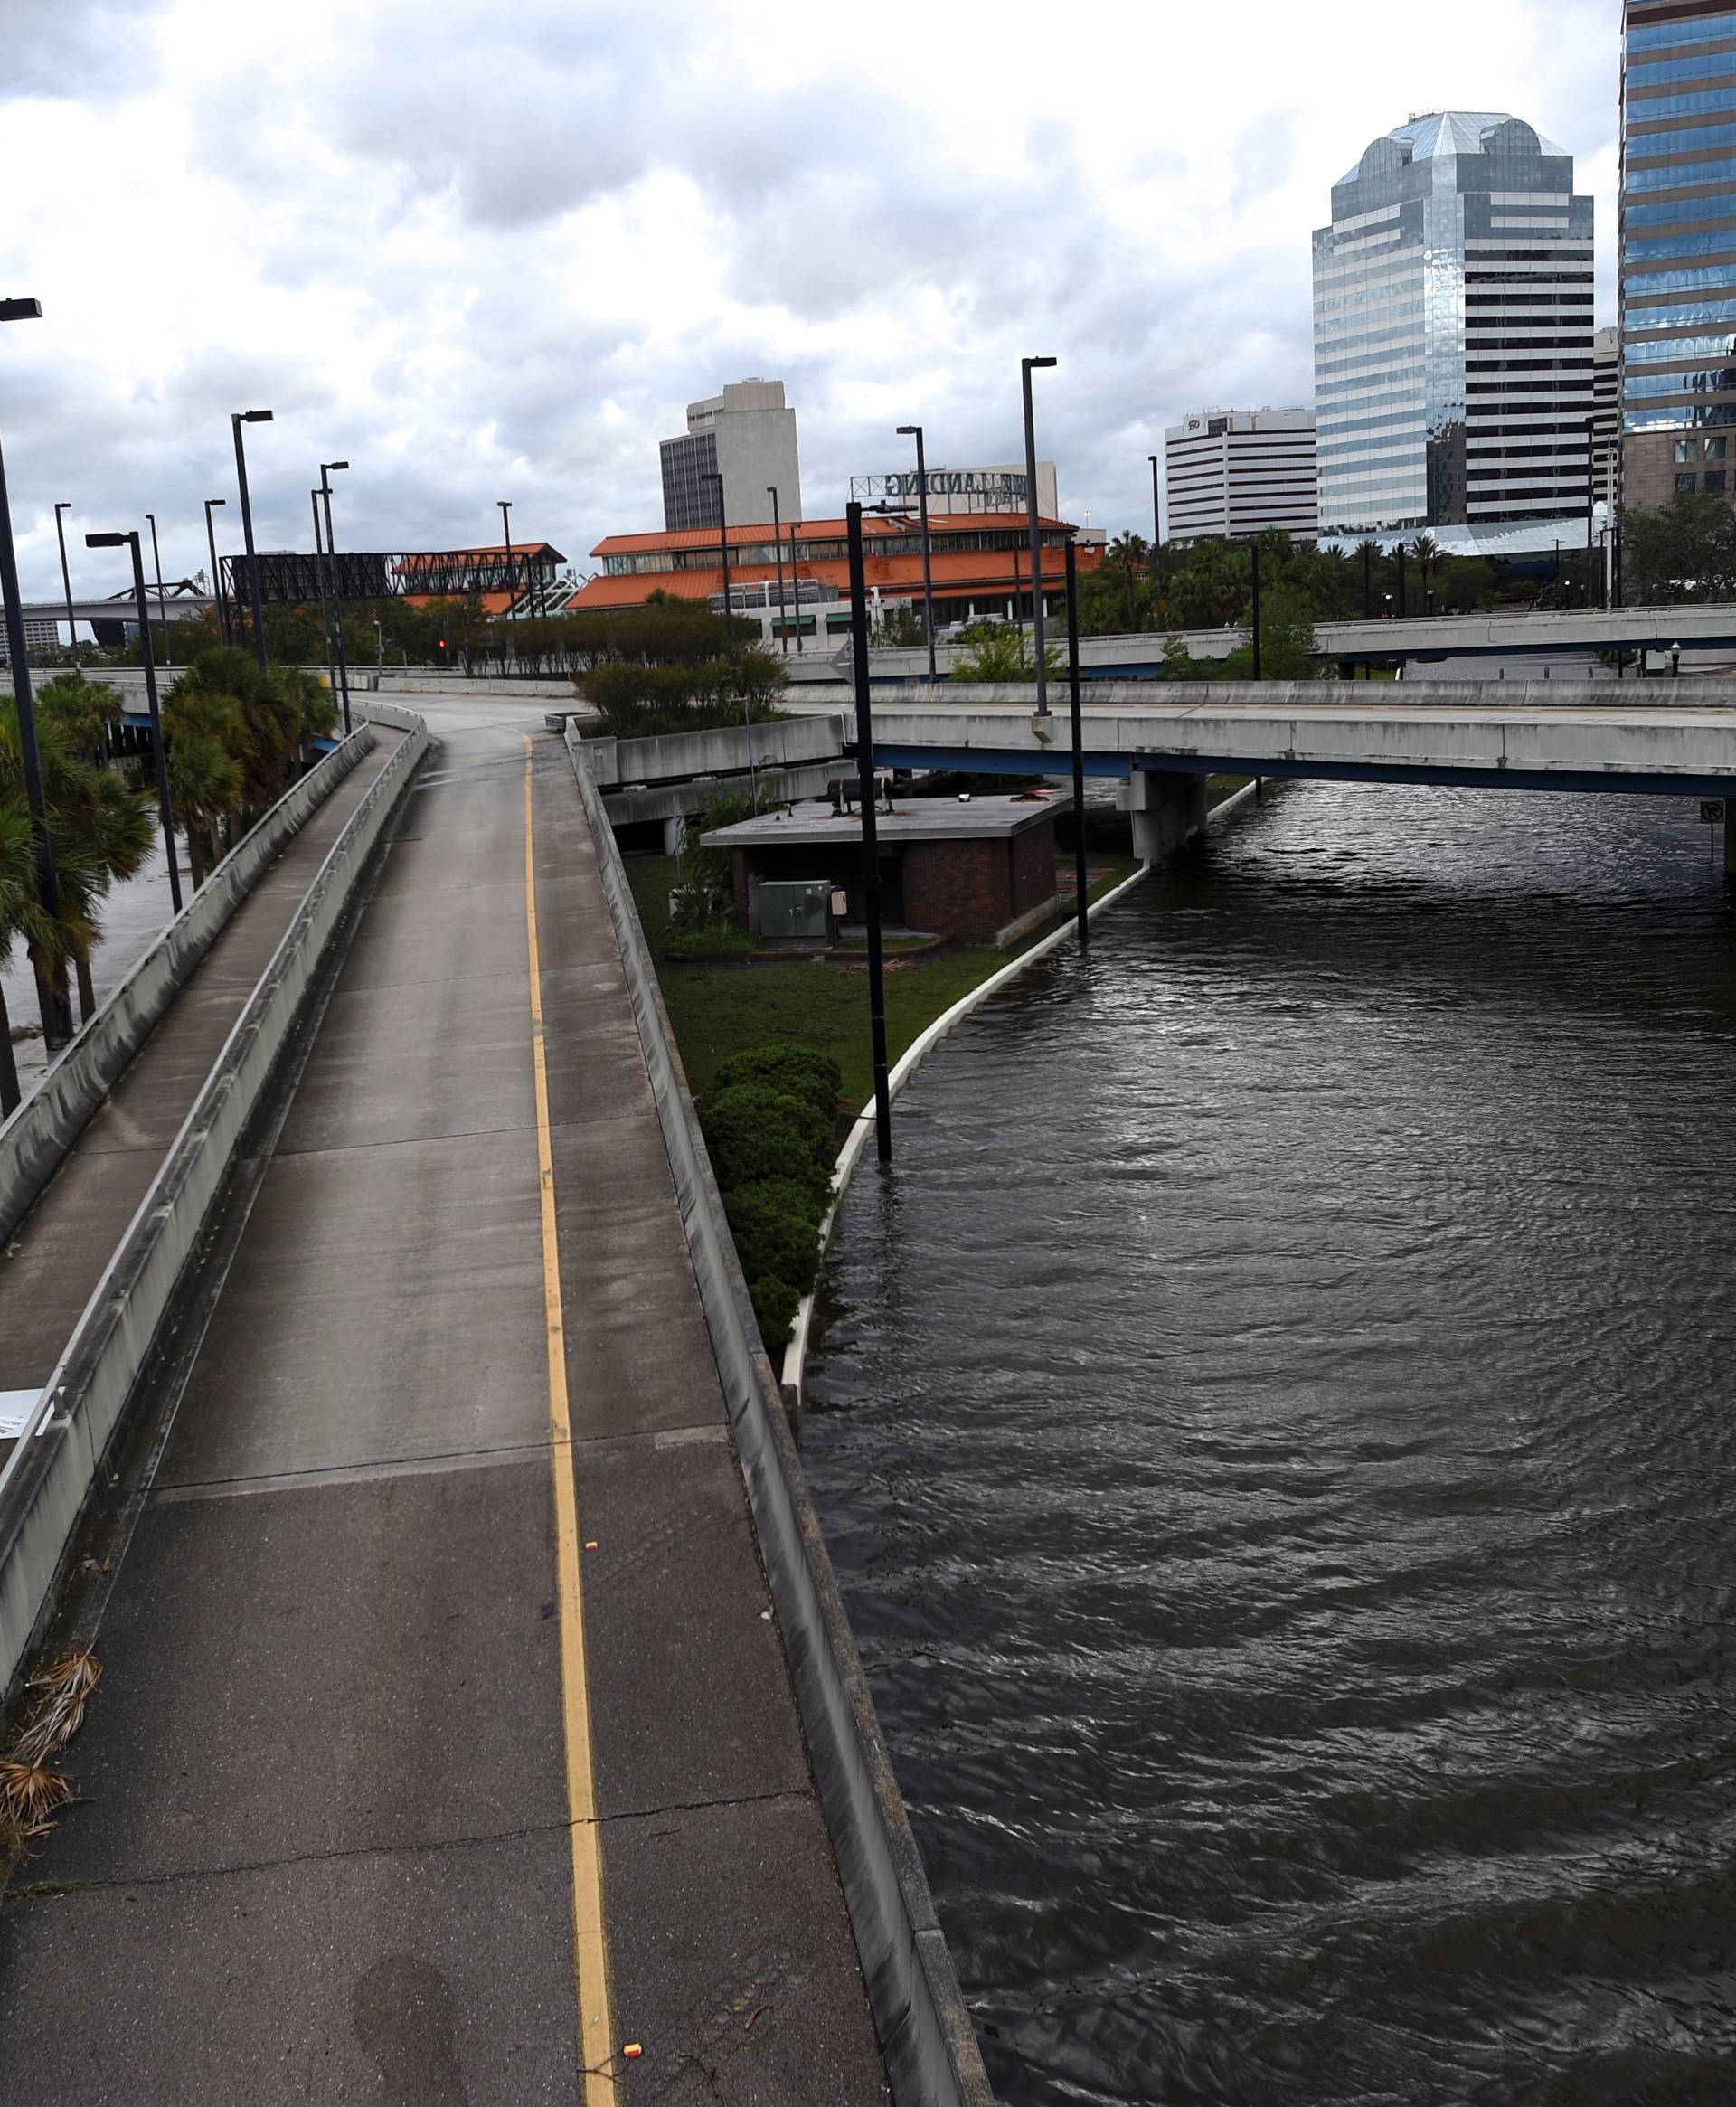
[(596, 841), (603, 891), (657, 1100), (687, 1249), (891, 2094), (897, 2107), (990, 2107), (992, 2094), (969, 2010), (933, 1913), (820, 1519), (761, 1346), (748, 1283), (725, 1224), (638, 910), (603, 799), (581, 759), (584, 746), (569, 731), (567, 750)]

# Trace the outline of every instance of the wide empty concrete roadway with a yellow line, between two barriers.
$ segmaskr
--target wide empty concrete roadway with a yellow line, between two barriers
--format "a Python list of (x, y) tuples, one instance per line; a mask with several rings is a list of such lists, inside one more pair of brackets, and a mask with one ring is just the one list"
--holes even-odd
[(0, 2094), (866, 2107), (571, 769), (430, 721), (0, 1913)]

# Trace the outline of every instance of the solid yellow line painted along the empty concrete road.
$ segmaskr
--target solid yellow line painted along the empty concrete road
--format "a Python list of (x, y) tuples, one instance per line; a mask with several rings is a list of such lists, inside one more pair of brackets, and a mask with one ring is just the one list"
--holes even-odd
[(609, 1947), (603, 1936), (603, 1835), (590, 1755), (579, 1504), (573, 1488), (573, 1418), (567, 1401), (567, 1332), (560, 1315), (560, 1235), (554, 1214), (554, 1144), (548, 1131), (548, 1054), (537, 946), (537, 847), (531, 820), (533, 748), (525, 740), (525, 929), (531, 942), (531, 1062), (537, 1079), (537, 1184), (541, 1186), (544, 1321), (548, 1330), (548, 1445), (554, 1466), (554, 1587), (560, 1603), (560, 1705), (567, 1730), (567, 1810), (573, 1835), (573, 1964), (579, 1993), (586, 2107), (613, 2107), (615, 2040)]

